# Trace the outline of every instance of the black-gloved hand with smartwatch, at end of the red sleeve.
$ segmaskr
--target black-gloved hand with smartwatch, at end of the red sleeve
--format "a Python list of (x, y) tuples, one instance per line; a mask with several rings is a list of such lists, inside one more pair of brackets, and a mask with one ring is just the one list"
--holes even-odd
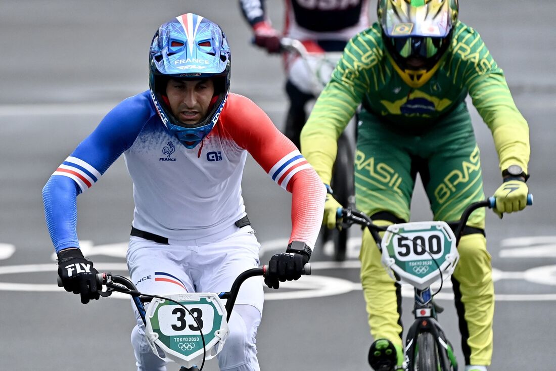
[[(300, 241), (292, 241), (285, 253), (272, 255), (265, 275), (265, 284), (277, 289), (280, 282), (297, 280), (304, 273), (304, 265), (309, 263), (311, 248)], [(279, 282), (280, 281), (280, 282)]]

